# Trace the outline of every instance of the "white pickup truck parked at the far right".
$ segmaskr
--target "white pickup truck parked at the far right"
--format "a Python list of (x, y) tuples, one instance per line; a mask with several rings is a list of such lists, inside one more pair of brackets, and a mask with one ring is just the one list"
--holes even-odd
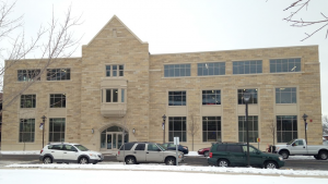
[(276, 145), (273, 151), (288, 159), (289, 156), (314, 156), (317, 160), (327, 160), (328, 146), (327, 145), (306, 145), (305, 139), (292, 139), (285, 145)]

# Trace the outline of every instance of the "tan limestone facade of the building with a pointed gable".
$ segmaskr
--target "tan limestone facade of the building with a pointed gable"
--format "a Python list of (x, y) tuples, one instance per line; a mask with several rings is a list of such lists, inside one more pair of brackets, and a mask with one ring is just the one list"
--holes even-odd
[[(270, 73), (270, 60), (291, 58), (301, 59), (300, 72)], [(260, 73), (233, 73), (235, 61), (254, 60), (261, 61)], [(35, 69), (45, 62), (24, 60), (5, 71), (3, 98), (10, 98), (24, 87), (25, 83), (17, 81), (19, 70)], [(216, 62), (225, 63), (224, 75), (198, 75), (199, 63)], [(164, 68), (171, 64), (190, 64), (190, 76), (166, 77)], [(124, 65), (124, 75), (106, 76), (106, 65), (112, 69)], [(35, 108), (21, 108), (19, 98), (4, 109), (2, 150), (42, 149), (39, 124), (43, 115), (47, 116), (45, 143), (49, 142), (49, 120), (61, 118), (65, 119), (63, 140), (80, 143), (93, 150), (116, 150), (124, 136), (128, 142), (163, 143), (163, 114), (167, 116), (165, 142), (174, 135), (174, 123), (169, 122), (174, 116), (186, 120), (186, 127), (179, 130), (184, 134), (180, 144), (190, 150), (192, 142), (194, 150), (209, 147), (213, 142), (204, 142), (204, 116), (221, 118), (221, 131), (216, 132), (221, 134), (220, 140), (239, 142), (238, 116), (245, 115), (245, 105), (238, 105), (238, 89), (257, 90), (257, 103), (249, 105), (248, 112), (258, 119), (260, 149), (265, 150), (268, 144), (272, 144), (270, 126), (277, 124), (280, 115), (296, 116), (293, 137), (304, 138), (304, 113), (308, 115), (308, 144), (321, 144), (318, 46), (151, 54), (149, 44), (141, 41), (114, 16), (89, 45), (82, 47), (81, 58), (61, 59), (48, 69), (70, 69), (70, 79), (48, 81), (45, 72), (40, 81), (23, 91), (23, 95), (35, 95)], [(295, 88), (296, 102), (277, 103), (278, 88)], [(118, 102), (106, 102), (107, 89), (118, 89), (112, 90), (112, 95), (118, 93)], [(221, 105), (202, 105), (203, 90), (220, 90)], [(185, 91), (186, 106), (169, 106), (169, 91)], [(51, 94), (65, 94), (66, 108), (50, 108)], [(24, 119), (35, 121), (33, 142), (20, 140), (20, 121)], [(194, 138), (192, 122), (198, 127)], [(277, 136), (274, 140), (278, 142)]]

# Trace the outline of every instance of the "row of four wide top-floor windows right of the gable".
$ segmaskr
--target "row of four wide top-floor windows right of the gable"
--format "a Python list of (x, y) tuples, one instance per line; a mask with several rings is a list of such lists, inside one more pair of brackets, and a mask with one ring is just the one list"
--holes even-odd
[[(164, 65), (164, 77), (190, 76), (190, 64)], [(270, 60), (270, 73), (301, 72), (301, 59), (274, 59)], [(233, 61), (233, 74), (258, 74), (262, 73), (262, 61)], [(225, 62), (198, 63), (197, 75), (225, 75)]]

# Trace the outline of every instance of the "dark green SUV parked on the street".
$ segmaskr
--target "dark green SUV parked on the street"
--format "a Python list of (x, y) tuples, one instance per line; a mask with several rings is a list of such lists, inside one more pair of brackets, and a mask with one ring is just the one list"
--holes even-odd
[[(246, 167), (247, 144), (245, 143), (215, 143), (210, 149), (208, 163), (218, 167)], [(279, 169), (284, 160), (276, 154), (267, 154), (249, 145), (249, 164), (253, 167)]]

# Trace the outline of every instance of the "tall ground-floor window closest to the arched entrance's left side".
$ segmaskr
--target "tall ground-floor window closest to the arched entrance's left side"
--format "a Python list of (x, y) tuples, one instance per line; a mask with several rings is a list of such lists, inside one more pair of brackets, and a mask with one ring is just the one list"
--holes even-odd
[(49, 142), (65, 142), (66, 119), (49, 119)]

